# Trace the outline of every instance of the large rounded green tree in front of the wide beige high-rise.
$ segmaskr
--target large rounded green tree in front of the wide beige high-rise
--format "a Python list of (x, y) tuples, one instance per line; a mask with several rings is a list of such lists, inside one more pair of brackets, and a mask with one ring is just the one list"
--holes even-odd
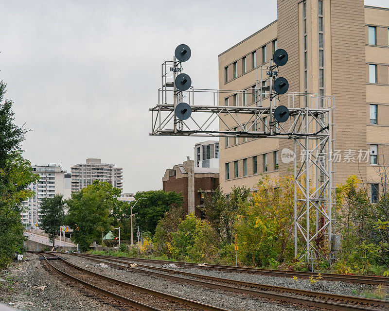
[(66, 222), (75, 229), (72, 240), (82, 251), (87, 251), (93, 241), (102, 241), (102, 235), (111, 229), (110, 215), (120, 204), (117, 197), (121, 191), (96, 180), (80, 192), (73, 192), (71, 199), (66, 200), (69, 207)]

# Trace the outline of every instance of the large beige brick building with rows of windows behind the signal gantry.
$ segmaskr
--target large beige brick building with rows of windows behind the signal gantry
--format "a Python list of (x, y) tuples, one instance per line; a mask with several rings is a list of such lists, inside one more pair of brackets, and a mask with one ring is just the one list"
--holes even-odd
[[(219, 55), (219, 88), (247, 90), (226, 93), (219, 105), (254, 105), (258, 68), (277, 48), (286, 50), (289, 61), (279, 76), (290, 92), (335, 96), (336, 150), (343, 155), (336, 183), (357, 174), (372, 184), (374, 195), (377, 167), (389, 158), (388, 39), (387, 8), (364, 6), (363, 0), (278, 0), (276, 21)], [(285, 101), (280, 97), (276, 104)], [(268, 95), (262, 103), (269, 105)], [(219, 129), (225, 127), (220, 122)], [(260, 174), (285, 173), (291, 165), (279, 160), (280, 153), (292, 146), (288, 139), (221, 138), (221, 187), (229, 193), (234, 185), (253, 187)], [(350, 150), (354, 161), (345, 161)], [(358, 154), (367, 161), (358, 161)]]

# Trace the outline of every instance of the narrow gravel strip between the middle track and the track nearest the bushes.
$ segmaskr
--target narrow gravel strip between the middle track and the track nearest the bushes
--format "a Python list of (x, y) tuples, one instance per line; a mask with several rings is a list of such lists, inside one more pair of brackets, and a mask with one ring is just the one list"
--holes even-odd
[[(139, 262), (139, 263), (148, 266), (162, 267), (161, 264), (153, 264), (149, 262)], [(283, 287), (290, 287), (290, 288), (296, 288), (296, 289), (307, 290), (307, 291), (317, 291), (323, 293), (341, 294), (341, 295), (356, 296), (356, 297), (364, 297), (364, 295), (362, 294), (363, 292), (374, 290), (377, 287), (375, 285), (354, 284), (354, 283), (338, 282), (338, 281), (326, 281), (323, 279), (318, 280), (318, 282), (314, 284), (311, 284), (309, 279), (307, 278), (298, 278), (297, 281), (294, 282), (291, 277), (264, 276), (259, 274), (223, 272), (217, 270), (205, 270), (205, 269), (196, 269), (196, 268), (175, 268), (174, 270), (202, 274), (206, 276), (230, 278), (234, 280), (246, 281), (251, 283), (283, 286)], [(180, 276), (187, 277), (183, 275)], [(389, 295), (389, 288), (387, 289), (387, 294)]]

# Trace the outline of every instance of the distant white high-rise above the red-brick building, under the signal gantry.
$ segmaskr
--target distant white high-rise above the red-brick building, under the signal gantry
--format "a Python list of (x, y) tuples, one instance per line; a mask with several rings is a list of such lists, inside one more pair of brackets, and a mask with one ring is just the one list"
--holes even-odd
[(219, 141), (207, 140), (195, 144), (196, 167), (219, 167)]

